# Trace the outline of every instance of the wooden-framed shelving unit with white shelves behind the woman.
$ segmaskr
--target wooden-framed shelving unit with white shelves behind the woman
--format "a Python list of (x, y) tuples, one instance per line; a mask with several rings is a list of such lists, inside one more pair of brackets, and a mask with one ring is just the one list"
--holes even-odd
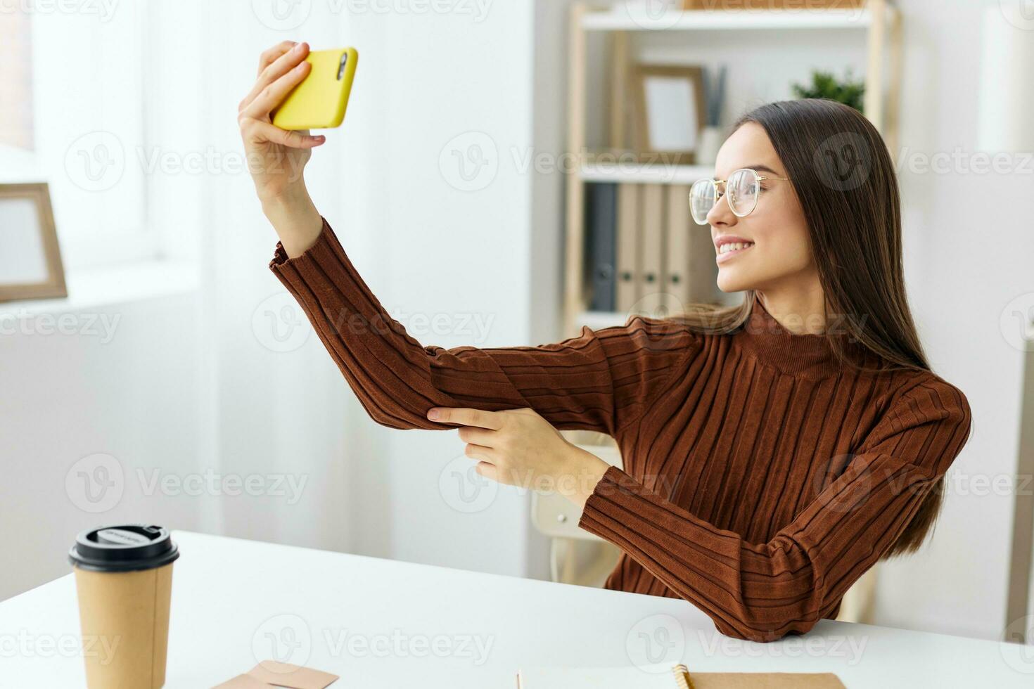
[[(814, 30), (866, 32), (865, 116), (883, 134), (888, 148), (896, 148), (901, 13), (889, 0), (869, 0), (862, 9), (808, 10), (687, 10), (661, 15), (637, 13), (630, 5), (617, 3), (599, 8), (577, 3), (571, 10), (571, 56), (568, 103), (568, 152), (581, 160), (578, 174), (567, 186), (566, 265), (564, 321), (569, 335), (577, 335), (582, 324), (592, 327), (621, 324), (622, 313), (594, 313), (586, 310), (587, 285), (584, 265), (585, 185), (592, 182), (643, 184), (692, 184), (710, 176), (705, 165), (635, 164), (600, 162), (586, 148), (586, 105), (589, 68), (587, 43), (590, 33), (606, 33), (610, 42), (608, 137), (610, 148), (621, 151), (628, 123), (624, 103), (629, 93), (630, 35), (643, 32)], [(884, 60), (888, 64), (884, 67)], [(619, 161), (620, 159), (618, 159)]]

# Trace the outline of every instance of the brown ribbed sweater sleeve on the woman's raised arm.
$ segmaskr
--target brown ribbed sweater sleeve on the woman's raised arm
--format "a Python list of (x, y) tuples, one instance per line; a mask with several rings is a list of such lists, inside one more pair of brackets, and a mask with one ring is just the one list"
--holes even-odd
[(683, 326), (633, 316), (625, 325), (535, 347), (424, 346), (393, 319), (326, 219), (315, 244), (270, 269), (295, 296), (373, 420), (394, 429), (452, 429), (431, 407), (530, 407), (559, 430), (614, 435), (673, 380), (699, 340)]

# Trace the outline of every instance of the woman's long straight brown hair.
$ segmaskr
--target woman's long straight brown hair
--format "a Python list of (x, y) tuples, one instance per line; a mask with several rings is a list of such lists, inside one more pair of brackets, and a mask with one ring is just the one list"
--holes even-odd
[[(808, 98), (757, 107), (733, 126), (764, 128), (800, 200), (813, 255), (829, 314), (847, 318), (844, 333), (876, 354), (880, 371), (930, 371), (905, 293), (901, 199), (886, 144), (858, 111)], [(677, 318), (705, 333), (729, 333), (748, 320), (757, 293), (746, 291), (739, 306), (689, 305)], [(834, 355), (861, 368), (846, 354), (840, 334), (827, 335)], [(882, 559), (919, 549), (941, 510), (944, 477)]]

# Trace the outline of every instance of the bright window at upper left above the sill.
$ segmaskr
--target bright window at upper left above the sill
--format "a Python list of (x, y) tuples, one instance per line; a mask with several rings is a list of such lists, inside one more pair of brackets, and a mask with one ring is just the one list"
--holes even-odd
[(0, 6), (0, 180), (48, 183), (72, 270), (157, 251), (136, 153), (148, 4)]

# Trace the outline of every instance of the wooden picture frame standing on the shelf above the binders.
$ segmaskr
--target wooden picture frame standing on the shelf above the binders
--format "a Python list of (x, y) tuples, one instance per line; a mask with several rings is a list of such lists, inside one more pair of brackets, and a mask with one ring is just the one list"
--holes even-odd
[(636, 149), (678, 164), (694, 163), (707, 124), (703, 68), (637, 65), (633, 94)]

